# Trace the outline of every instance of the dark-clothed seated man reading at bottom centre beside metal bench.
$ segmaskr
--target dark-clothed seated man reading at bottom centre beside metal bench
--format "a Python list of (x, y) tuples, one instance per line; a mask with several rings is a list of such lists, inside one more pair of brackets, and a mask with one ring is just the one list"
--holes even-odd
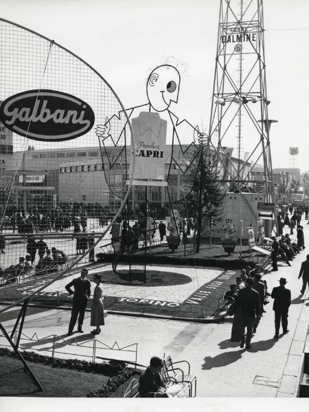
[(139, 395), (141, 398), (167, 398), (164, 391), (164, 382), (161, 375), (163, 360), (152, 356), (150, 365), (139, 377)]

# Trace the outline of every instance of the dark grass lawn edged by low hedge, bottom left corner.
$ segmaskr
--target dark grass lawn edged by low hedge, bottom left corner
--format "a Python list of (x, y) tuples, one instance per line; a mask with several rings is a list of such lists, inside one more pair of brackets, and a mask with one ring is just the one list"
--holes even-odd
[[(40, 362), (27, 362), (45, 392), (40, 391), (26, 373), (18, 358), (0, 357), (0, 394), (2, 396), (34, 396), (44, 398), (86, 398), (91, 391), (101, 389), (110, 376), (102, 373), (76, 371), (62, 367), (52, 367)], [(137, 376), (138, 378), (138, 376)], [(130, 378), (131, 380), (131, 378)], [(130, 382), (128, 380), (128, 383)], [(125, 382), (117, 388), (113, 397), (122, 397)]]

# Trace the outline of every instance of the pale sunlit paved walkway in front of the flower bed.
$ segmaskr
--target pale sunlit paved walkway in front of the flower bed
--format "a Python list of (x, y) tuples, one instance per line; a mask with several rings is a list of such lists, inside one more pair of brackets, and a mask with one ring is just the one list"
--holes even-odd
[[(309, 226), (304, 226), (304, 232), (305, 239), (309, 239)], [(108, 315), (102, 334), (97, 338), (106, 345), (117, 341), (122, 347), (138, 343), (137, 362), (141, 365), (148, 365), (149, 358), (154, 354), (171, 354), (174, 360), (188, 360), (192, 373), (197, 376), (199, 398), (293, 398), (297, 393), (308, 332), (308, 291), (304, 296), (300, 295), (301, 280), (297, 279), (306, 252), (297, 255), (292, 267), (283, 266), (279, 272), (269, 272), (264, 278), (271, 291), (279, 284), (280, 277), (286, 277), (286, 286), (292, 292), (288, 318), (290, 332), (280, 334), (278, 340), (273, 339), (272, 300), (265, 307), (266, 314), (249, 350), (240, 349), (239, 345), (230, 342), (232, 318), (226, 318), (218, 325)], [(9, 330), (18, 311), (15, 308), (0, 315), (1, 323)], [(53, 334), (65, 338), (69, 317), (70, 312), (66, 310), (29, 308), (24, 333), (29, 337), (36, 333), (38, 338)], [(74, 334), (72, 338), (79, 343), (92, 339), (87, 333), (91, 330), (89, 313), (84, 321), (84, 330), (84, 334)], [(33, 346), (46, 349), (39, 343)], [(25, 347), (31, 349), (29, 343), (22, 341), (21, 349)], [(267, 403), (267, 409), (269, 405)], [(229, 410), (233, 409), (230, 407)]]

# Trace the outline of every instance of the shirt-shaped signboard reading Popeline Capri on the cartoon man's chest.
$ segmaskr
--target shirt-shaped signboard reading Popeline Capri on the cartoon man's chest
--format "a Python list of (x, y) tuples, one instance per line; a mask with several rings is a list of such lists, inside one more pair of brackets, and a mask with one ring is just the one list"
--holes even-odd
[(132, 119), (136, 142), (135, 179), (164, 180), (167, 124), (159, 113), (148, 111), (141, 111), (138, 118)]

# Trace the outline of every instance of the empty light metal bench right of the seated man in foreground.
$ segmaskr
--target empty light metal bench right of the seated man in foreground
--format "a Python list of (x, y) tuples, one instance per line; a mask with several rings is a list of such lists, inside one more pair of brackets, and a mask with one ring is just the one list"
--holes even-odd
[[(196, 396), (196, 376), (190, 374), (190, 363), (187, 360), (179, 360), (177, 362), (172, 361), (172, 357), (166, 356), (163, 358), (163, 376), (164, 378), (172, 378), (174, 383), (183, 383), (187, 382), (189, 386), (189, 397), (194, 398)], [(186, 372), (183, 371), (179, 364), (185, 364)], [(175, 367), (175, 365), (177, 365)]]

